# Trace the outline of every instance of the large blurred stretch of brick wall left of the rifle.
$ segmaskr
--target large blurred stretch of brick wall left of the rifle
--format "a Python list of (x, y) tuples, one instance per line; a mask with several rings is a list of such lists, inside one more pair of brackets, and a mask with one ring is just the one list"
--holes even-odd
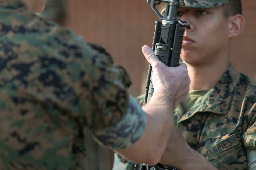
[(67, 6), (64, 25), (84, 40), (105, 46), (115, 63), (129, 72), (131, 94), (139, 95), (142, 72), (148, 67), (141, 47), (152, 46), (158, 19), (146, 0), (72, 0)]

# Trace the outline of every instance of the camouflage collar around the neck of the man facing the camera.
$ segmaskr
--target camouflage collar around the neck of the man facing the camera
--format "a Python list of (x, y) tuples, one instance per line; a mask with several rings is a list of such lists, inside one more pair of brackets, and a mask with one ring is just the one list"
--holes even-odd
[[(188, 119), (197, 112), (212, 112), (220, 115), (227, 114), (231, 96), (238, 80), (239, 73), (233, 64), (230, 64), (215, 87), (209, 90), (199, 102), (185, 113), (180, 121)], [(175, 110), (183, 110), (183, 108), (179, 105)]]

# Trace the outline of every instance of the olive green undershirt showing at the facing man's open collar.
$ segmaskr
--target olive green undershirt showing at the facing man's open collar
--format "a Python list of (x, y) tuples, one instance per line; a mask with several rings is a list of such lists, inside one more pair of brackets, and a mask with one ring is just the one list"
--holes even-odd
[(188, 92), (187, 99), (182, 102), (184, 111), (187, 112), (196, 102), (198, 102), (202, 96), (204, 96), (209, 90), (190, 90)]

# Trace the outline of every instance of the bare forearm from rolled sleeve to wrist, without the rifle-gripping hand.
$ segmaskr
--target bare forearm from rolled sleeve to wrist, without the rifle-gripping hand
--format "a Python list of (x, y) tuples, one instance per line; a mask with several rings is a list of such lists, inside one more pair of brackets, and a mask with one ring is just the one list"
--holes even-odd
[[(154, 96), (154, 95), (153, 95)], [(163, 154), (173, 122), (174, 106), (157, 96), (142, 108), (146, 112), (147, 124), (141, 138), (131, 147), (118, 150), (131, 162), (156, 164)]]

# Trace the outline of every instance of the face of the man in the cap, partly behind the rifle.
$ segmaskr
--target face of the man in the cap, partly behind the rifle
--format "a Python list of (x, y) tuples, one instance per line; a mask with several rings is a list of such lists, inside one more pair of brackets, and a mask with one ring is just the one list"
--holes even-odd
[(178, 17), (191, 24), (185, 28), (180, 57), (188, 64), (211, 64), (227, 49), (228, 20), (223, 8), (179, 8)]

